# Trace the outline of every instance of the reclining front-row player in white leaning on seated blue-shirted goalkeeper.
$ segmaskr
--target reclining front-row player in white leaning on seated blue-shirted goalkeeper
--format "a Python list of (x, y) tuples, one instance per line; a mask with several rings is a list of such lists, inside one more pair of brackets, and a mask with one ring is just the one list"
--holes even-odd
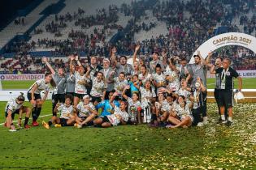
[(111, 127), (120, 124), (126, 125), (126, 122), (129, 119), (128, 113), (126, 112), (127, 104), (125, 104), (124, 101), (120, 102), (120, 107), (117, 107), (115, 104), (113, 104), (115, 96), (118, 95), (119, 94), (115, 92), (110, 100), (111, 106), (114, 108), (114, 113), (105, 117), (98, 117), (93, 121), (93, 125), (99, 125), (102, 127)]

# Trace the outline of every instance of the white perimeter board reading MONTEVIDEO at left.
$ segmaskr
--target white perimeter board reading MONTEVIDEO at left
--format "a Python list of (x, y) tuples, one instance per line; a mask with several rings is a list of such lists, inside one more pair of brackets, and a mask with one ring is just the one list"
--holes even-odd
[(37, 80), (44, 77), (45, 74), (0, 74), (0, 80)]

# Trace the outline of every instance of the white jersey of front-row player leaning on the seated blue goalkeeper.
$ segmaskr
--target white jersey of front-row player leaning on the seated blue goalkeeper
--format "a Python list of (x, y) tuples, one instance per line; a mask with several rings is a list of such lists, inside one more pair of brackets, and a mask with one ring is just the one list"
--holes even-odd
[(120, 119), (122, 118), (124, 121), (128, 121), (129, 117), (128, 117), (128, 113), (127, 112), (123, 112), (120, 110), (119, 107), (115, 106), (114, 108), (114, 114), (111, 115), (107, 115), (106, 116), (108, 118), (108, 120), (111, 122), (112, 125), (118, 125), (121, 121)]

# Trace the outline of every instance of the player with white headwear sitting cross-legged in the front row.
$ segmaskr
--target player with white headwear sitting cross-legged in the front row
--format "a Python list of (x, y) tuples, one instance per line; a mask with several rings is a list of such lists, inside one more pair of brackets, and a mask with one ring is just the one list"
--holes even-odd
[(89, 124), (92, 122), (94, 117), (97, 117), (98, 113), (93, 105), (93, 103), (89, 102), (89, 95), (85, 95), (83, 97), (84, 102), (80, 102), (76, 106), (76, 126), (77, 128), (81, 128), (84, 125), (93, 125)]

